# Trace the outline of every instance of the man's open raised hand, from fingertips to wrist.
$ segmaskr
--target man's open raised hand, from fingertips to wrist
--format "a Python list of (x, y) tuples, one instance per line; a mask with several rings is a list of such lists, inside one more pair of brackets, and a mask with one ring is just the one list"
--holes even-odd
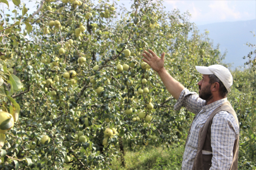
[(162, 53), (161, 58), (157, 57), (152, 50), (149, 50), (149, 52), (144, 51), (144, 54), (142, 55), (145, 59), (142, 60), (149, 64), (154, 71), (161, 71), (161, 69), (164, 68), (164, 52)]

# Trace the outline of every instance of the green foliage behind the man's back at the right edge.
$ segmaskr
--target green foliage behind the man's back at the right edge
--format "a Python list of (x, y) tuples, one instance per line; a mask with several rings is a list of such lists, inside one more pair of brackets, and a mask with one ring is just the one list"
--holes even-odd
[(234, 84), (230, 100), (240, 122), (240, 168), (256, 167), (255, 148), (255, 71), (253, 67), (233, 72)]

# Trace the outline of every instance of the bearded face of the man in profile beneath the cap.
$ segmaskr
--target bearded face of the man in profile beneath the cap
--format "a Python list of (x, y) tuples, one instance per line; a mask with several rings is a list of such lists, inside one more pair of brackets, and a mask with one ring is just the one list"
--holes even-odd
[(209, 76), (203, 74), (202, 80), (198, 82), (199, 97), (206, 101), (212, 98), (212, 91), (210, 90), (212, 84), (209, 84)]

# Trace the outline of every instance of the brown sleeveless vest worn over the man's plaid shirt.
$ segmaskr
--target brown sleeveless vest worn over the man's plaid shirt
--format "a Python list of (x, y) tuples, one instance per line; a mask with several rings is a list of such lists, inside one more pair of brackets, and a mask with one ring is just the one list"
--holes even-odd
[[(219, 106), (214, 110), (207, 121), (205, 122), (205, 125), (200, 128), (200, 132), (198, 135), (198, 149), (197, 149), (197, 155), (195, 156), (195, 161), (193, 163), (193, 169), (192, 170), (209, 170), (212, 166), (212, 154), (203, 156), (202, 150), (207, 150), (212, 152), (212, 147), (210, 145), (210, 127), (212, 125), (212, 120), (214, 116), (219, 113), (219, 111), (228, 111), (231, 113), (235, 119), (236, 123), (239, 127), (238, 118), (236, 116), (235, 110), (233, 110), (232, 106), (230, 105), (229, 101), (226, 101), (223, 103), (223, 105)], [(191, 128), (191, 127), (190, 127)], [(190, 130), (188, 134), (190, 133)], [(231, 164), (231, 167), (229, 170), (236, 170), (238, 169), (238, 150), (239, 150), (239, 136), (238, 139), (235, 140), (234, 147), (233, 147), (233, 162)]]

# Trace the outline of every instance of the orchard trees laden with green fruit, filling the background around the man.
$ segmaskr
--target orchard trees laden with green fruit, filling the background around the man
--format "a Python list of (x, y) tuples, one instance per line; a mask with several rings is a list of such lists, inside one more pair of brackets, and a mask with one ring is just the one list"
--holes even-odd
[[(7, 10), (8, 1), (0, 2)], [(125, 166), (124, 142), (134, 149), (185, 143), (193, 114), (173, 110), (176, 100), (142, 54), (166, 52), (167, 71), (197, 92), (195, 65), (220, 64), (224, 56), (190, 14), (148, 0), (132, 1), (129, 10), (108, 1), (46, 0), (33, 15), (13, 3), (15, 18), (3, 11), (0, 18), (0, 169), (111, 169), (115, 157)], [(236, 79), (231, 103), (243, 135), (255, 141), (253, 115), (241, 116), (255, 111), (255, 101), (241, 106), (248, 102), (241, 86)], [(240, 143), (254, 148), (247, 137)]]

